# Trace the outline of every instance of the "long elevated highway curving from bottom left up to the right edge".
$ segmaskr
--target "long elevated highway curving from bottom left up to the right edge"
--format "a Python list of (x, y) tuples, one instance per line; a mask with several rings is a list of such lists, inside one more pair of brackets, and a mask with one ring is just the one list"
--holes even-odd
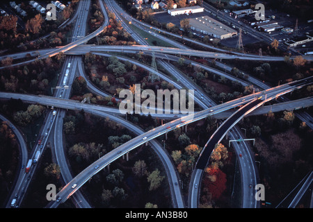
[[(255, 98), (259, 98), (259, 96), (264, 96), (265, 100), (266, 98), (275, 98), (275, 96), (281, 96), (282, 94), (292, 92), (294, 89), (298, 89), (300, 87), (303, 87), (307, 84), (310, 84), (310, 81), (312, 78), (306, 79), (306, 80), (300, 80), (296, 81), (294, 83), (280, 85), (278, 87), (268, 89), (264, 92), (257, 92), (255, 94), (245, 96), (245, 101), (235, 103), (234, 105), (238, 105), (238, 103), (248, 103), (249, 101), (254, 100)], [(84, 169), (81, 173), (79, 173), (71, 182), (69, 182), (57, 195), (59, 201), (55, 201), (54, 203), (51, 203), (49, 205), (50, 207), (56, 207), (59, 203), (63, 203), (67, 198), (70, 198), (72, 194), (79, 189), (86, 181), (89, 180), (95, 173), (101, 171), (104, 167), (106, 167), (110, 162), (113, 162), (114, 160), (121, 157), (123, 154), (133, 150), (134, 148), (141, 146), (142, 144), (145, 144), (146, 142), (150, 141), (151, 139), (154, 139), (156, 137), (159, 137), (160, 135), (163, 135), (164, 133), (167, 133), (170, 130), (173, 130), (177, 127), (184, 126), (188, 123), (192, 123), (194, 121), (198, 121), (199, 119), (203, 119), (207, 117), (208, 115), (214, 113), (214, 112), (222, 112), (223, 110), (229, 109), (229, 105), (234, 103), (234, 101), (230, 101), (226, 103), (223, 103), (221, 105), (216, 105), (214, 108), (211, 108), (211, 110), (203, 110), (200, 112), (196, 112), (195, 114), (188, 115), (186, 117), (182, 117), (181, 119), (176, 119), (174, 121), (171, 121), (170, 123), (166, 123), (162, 126), (159, 126), (157, 128), (154, 128), (146, 133), (143, 133), (139, 137), (135, 137), (134, 139), (129, 140), (129, 142), (126, 142), (125, 144), (122, 144), (118, 148), (115, 148), (110, 153), (107, 153), (103, 157), (99, 158), (99, 160), (95, 161), (93, 164), (90, 164), (89, 167)], [(226, 105), (225, 105), (226, 104)], [(232, 105), (230, 105), (232, 106)], [(99, 166), (99, 167), (97, 167)], [(72, 185), (76, 184), (76, 187), (72, 188)]]

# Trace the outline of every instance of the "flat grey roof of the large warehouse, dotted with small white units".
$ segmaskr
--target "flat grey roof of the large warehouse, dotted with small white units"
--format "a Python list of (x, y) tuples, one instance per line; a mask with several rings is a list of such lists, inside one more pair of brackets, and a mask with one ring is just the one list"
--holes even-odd
[(237, 33), (237, 31), (235, 31), (234, 29), (216, 21), (215, 19), (212, 19), (209, 16), (189, 19), (189, 25), (191, 27), (200, 28), (203, 31), (208, 31), (209, 33), (214, 33), (220, 36), (230, 33)]

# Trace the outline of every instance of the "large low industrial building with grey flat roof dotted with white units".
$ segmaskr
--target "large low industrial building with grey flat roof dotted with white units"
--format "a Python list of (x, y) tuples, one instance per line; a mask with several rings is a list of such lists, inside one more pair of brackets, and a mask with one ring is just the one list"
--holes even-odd
[(194, 31), (198, 31), (204, 35), (216, 37), (220, 40), (237, 35), (237, 31), (225, 26), (225, 24), (222, 24), (209, 16), (189, 19), (189, 25)]

